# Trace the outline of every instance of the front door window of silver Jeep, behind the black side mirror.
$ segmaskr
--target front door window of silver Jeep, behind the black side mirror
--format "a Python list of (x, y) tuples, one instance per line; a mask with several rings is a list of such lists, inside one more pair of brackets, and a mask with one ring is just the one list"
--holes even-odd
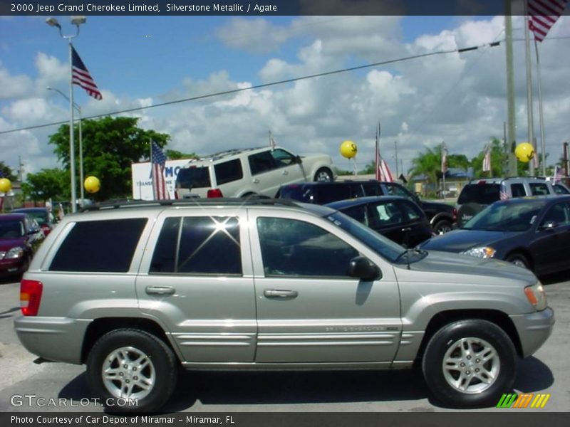
[(257, 218), (266, 276), (348, 278), (358, 251), (311, 223), (289, 218)]

